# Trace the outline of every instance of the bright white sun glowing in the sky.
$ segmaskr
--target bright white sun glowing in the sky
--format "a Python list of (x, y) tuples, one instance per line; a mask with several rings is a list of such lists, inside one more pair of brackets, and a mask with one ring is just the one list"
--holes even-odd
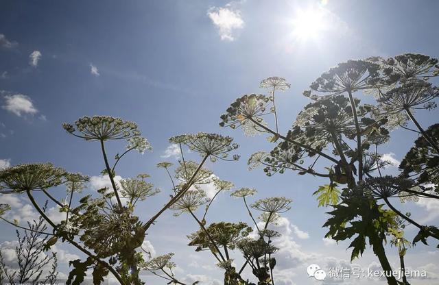
[(319, 38), (326, 26), (320, 9), (298, 10), (292, 21), (294, 36), (300, 40)]

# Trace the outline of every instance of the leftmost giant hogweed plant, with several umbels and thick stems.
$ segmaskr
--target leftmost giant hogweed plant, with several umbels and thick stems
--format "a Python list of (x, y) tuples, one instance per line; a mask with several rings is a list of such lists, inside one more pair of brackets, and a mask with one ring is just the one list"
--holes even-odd
[[(143, 153), (152, 147), (147, 139), (141, 136), (137, 125), (111, 116), (84, 116), (75, 123), (63, 124), (64, 129), (77, 138), (96, 143), (104, 161), (103, 174), (110, 179), (110, 188), (102, 188), (97, 192), (99, 197), (92, 195), (81, 196), (81, 190), (86, 187), (89, 177), (80, 173), (69, 173), (50, 163), (19, 164), (0, 171), (0, 193), (2, 195), (27, 195), (30, 203), (40, 214), (48, 229), (44, 234), (51, 236), (47, 241), (47, 249), (56, 243), (69, 243), (84, 253), (85, 259), (71, 260), (71, 271), (67, 284), (81, 284), (86, 272), (91, 271), (94, 284), (101, 284), (110, 273), (120, 284), (145, 284), (140, 277), (141, 271), (165, 269), (171, 283), (182, 284), (172, 272), (171, 255), (161, 256), (152, 260), (144, 260), (141, 247), (145, 236), (154, 230), (154, 223), (166, 210), (186, 209), (185, 205), (196, 207), (202, 197), (194, 195), (193, 188), (211, 182), (213, 173), (205, 169), (204, 163), (210, 159), (237, 160), (237, 155), (229, 158), (229, 153), (237, 149), (233, 138), (218, 134), (185, 134), (170, 138), (171, 143), (189, 147), (199, 153), (200, 162), (185, 161), (183, 158), (176, 169), (178, 184), (173, 184), (169, 201), (158, 212), (147, 217), (139, 217), (134, 210), (139, 203), (156, 195), (158, 190), (147, 181), (149, 175), (139, 174), (137, 177), (115, 181), (117, 166), (128, 153), (139, 151)], [(126, 140), (126, 149), (117, 153), (111, 160), (106, 151), (106, 144), (112, 140)], [(169, 163), (163, 162), (158, 166), (167, 169)], [(169, 171), (168, 174), (170, 175)], [(217, 182), (221, 188), (228, 184)], [(67, 198), (59, 201), (53, 195), (65, 186)], [(36, 192), (47, 196), (51, 203), (65, 213), (65, 219), (60, 223), (53, 221), (45, 213), (45, 207), (40, 206), (34, 198)], [(201, 199), (201, 200), (200, 200)], [(195, 203), (195, 204), (193, 204)], [(29, 232), (35, 232), (32, 227), (25, 227), (8, 221), (5, 212), (8, 205), (1, 206), (1, 219), (21, 227)], [(49, 230), (49, 228), (51, 228)]]

